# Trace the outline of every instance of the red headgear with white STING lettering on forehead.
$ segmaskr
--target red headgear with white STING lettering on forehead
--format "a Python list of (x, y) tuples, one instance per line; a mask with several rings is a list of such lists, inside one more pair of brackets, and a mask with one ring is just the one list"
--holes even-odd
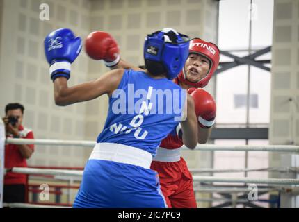
[(177, 76), (177, 78), (179, 78), (179, 81), (188, 85), (192, 85), (193, 87), (203, 88), (209, 83), (210, 78), (212, 77), (214, 71), (216, 71), (218, 67), (220, 54), (219, 49), (216, 46), (216, 44), (213, 44), (211, 42), (205, 42), (200, 38), (195, 38), (190, 41), (189, 54), (190, 53), (197, 53), (209, 59), (210, 69), (207, 73), (207, 76), (199, 80), (197, 83), (193, 83), (187, 80), (185, 70), (183, 69), (179, 73), (179, 76)]

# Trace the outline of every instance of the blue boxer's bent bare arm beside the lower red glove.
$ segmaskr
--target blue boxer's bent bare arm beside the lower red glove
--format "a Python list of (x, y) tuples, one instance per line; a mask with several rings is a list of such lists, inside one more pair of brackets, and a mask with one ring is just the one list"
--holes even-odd
[(187, 118), (181, 122), (182, 140), (185, 146), (194, 149), (197, 146), (197, 117), (194, 112), (194, 101), (187, 94)]

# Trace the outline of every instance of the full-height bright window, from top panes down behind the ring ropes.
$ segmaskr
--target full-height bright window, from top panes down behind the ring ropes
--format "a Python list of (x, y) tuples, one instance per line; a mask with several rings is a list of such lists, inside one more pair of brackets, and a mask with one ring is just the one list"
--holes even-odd
[[(237, 8), (237, 10), (232, 13), (232, 8)], [(253, 0), (251, 8), (250, 39), (250, 0), (225, 0), (219, 3), (219, 49), (238, 56), (241, 58), (241, 62), (239, 61), (237, 66), (216, 76), (216, 123), (218, 127), (229, 124), (244, 127), (247, 120), (249, 126), (254, 124), (254, 126), (265, 127), (270, 121), (270, 72), (252, 65), (249, 67), (242, 62), (244, 57), (249, 55), (250, 44), (251, 53), (272, 45), (273, 0)], [(254, 58), (265, 67), (270, 67), (270, 59), (271, 53)], [(234, 60), (229, 56), (220, 55), (220, 62), (224, 67)], [(248, 79), (250, 80), (249, 84)], [(247, 103), (248, 85), (249, 103)], [(249, 104), (248, 112), (247, 104)], [(244, 145), (246, 141), (245, 139), (217, 139), (215, 144), (236, 146)], [(268, 140), (249, 140), (248, 144), (267, 145)], [(247, 167), (249, 169), (268, 168), (268, 152), (248, 152)], [(215, 151), (214, 168), (245, 169), (245, 152)], [(245, 173), (214, 173), (213, 176), (238, 178), (245, 176)], [(268, 171), (248, 172), (248, 177), (268, 178)], [(227, 185), (233, 187), (237, 184)], [(213, 197), (220, 196), (213, 194)], [(268, 199), (268, 194), (261, 198)], [(222, 202), (213, 202), (212, 205), (215, 206), (219, 203)], [(268, 203), (257, 202), (254, 204), (268, 207)], [(243, 207), (243, 205), (237, 205), (237, 207)]]

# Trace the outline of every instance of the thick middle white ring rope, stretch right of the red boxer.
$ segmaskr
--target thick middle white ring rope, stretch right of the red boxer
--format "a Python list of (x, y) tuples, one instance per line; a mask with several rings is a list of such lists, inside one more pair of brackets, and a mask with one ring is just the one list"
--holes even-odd
[(193, 180), (197, 182), (245, 182), (268, 185), (299, 185), (298, 179), (280, 178), (218, 178), (215, 176), (193, 176)]

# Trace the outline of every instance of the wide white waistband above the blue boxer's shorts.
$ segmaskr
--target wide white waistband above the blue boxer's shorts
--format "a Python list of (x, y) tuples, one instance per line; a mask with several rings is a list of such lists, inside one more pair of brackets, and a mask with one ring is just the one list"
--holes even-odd
[(152, 163), (152, 154), (133, 146), (113, 143), (98, 143), (95, 144), (89, 160), (109, 160), (149, 169), (150, 164)]

